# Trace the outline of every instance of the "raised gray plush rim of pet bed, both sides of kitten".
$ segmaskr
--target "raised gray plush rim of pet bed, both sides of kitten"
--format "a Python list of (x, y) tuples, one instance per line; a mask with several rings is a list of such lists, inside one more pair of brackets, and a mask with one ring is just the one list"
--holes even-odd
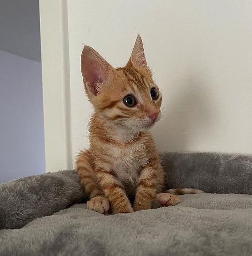
[[(167, 188), (252, 194), (252, 157), (214, 153), (164, 153), (161, 157)], [(85, 195), (73, 170), (0, 184), (0, 229), (21, 228), (81, 201)]]

